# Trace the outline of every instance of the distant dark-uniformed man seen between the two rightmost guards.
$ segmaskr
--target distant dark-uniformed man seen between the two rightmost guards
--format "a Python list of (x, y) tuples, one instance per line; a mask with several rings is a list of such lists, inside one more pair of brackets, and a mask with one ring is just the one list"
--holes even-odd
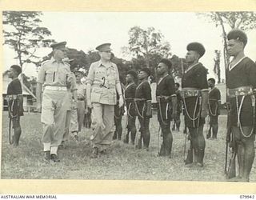
[(221, 92), (215, 87), (215, 79), (208, 79), (209, 90), (209, 116), (210, 116), (210, 128), (208, 130), (208, 134), (206, 138), (211, 137), (211, 130), (213, 130), (212, 138), (217, 139), (218, 134), (218, 115), (219, 115), (219, 107), (221, 105)]

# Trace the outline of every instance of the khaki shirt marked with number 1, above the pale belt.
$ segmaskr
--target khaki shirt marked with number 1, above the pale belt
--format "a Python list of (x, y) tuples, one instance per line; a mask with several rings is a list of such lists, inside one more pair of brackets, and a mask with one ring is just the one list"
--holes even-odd
[(38, 82), (42, 83), (43, 86), (66, 86), (67, 76), (70, 76), (70, 65), (51, 58), (42, 62), (38, 72)]

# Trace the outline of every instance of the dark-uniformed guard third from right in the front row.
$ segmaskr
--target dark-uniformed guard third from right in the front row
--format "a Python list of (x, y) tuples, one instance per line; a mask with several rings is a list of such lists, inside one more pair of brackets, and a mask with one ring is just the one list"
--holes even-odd
[[(176, 114), (176, 94), (174, 86), (174, 78), (172, 78), (168, 71), (172, 64), (170, 60), (163, 58), (158, 66), (158, 83), (156, 89), (156, 98), (158, 102), (158, 122), (162, 130), (162, 146), (159, 152), (160, 156), (171, 155), (173, 135), (170, 131), (171, 118), (175, 117)], [(170, 113), (170, 110), (172, 113)]]

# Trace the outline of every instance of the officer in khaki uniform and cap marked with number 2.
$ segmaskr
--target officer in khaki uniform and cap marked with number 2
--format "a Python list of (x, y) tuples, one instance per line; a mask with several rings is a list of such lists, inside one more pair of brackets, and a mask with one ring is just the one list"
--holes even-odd
[(92, 158), (99, 152), (105, 152), (110, 146), (114, 134), (114, 105), (119, 95), (119, 106), (123, 105), (122, 88), (118, 67), (110, 62), (110, 43), (96, 47), (101, 59), (90, 65), (86, 80), (87, 106), (92, 108), (93, 143)]

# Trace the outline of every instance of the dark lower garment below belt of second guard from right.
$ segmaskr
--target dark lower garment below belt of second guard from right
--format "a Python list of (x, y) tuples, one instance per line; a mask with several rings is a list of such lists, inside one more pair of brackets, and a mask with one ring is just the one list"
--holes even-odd
[(196, 128), (205, 123), (205, 118), (200, 117), (199, 110), (201, 110), (201, 105), (199, 105), (198, 97), (185, 98), (184, 114), (187, 127)]

